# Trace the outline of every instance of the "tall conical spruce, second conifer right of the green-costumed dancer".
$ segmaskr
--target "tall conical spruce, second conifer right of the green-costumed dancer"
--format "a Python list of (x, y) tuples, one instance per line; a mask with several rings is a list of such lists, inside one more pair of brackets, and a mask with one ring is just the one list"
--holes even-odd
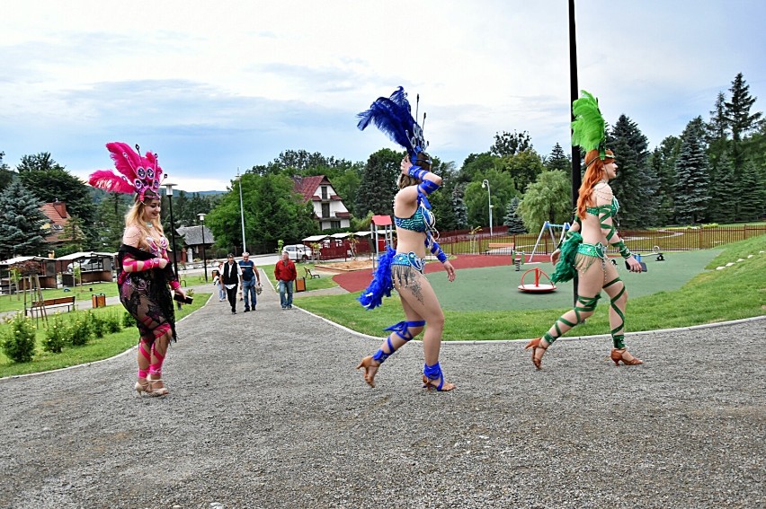
[(701, 117), (692, 119), (681, 135), (681, 153), (675, 163), (675, 210), (681, 221), (696, 224), (704, 218), (709, 200), (708, 156)]

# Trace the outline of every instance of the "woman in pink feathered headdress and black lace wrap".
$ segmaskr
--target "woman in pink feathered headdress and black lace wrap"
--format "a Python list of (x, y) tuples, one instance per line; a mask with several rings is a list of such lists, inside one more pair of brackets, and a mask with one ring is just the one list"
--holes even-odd
[(162, 168), (156, 154), (142, 156), (129, 145), (106, 145), (120, 175), (95, 171), (88, 182), (111, 192), (135, 193), (135, 202), (125, 215), (125, 232), (117, 255), (120, 271), (117, 286), (120, 302), (136, 319), (138, 342), (138, 395), (165, 396), (162, 364), (171, 340), (175, 340), (173, 298), (168, 285), (184, 300), (186, 294), (169, 263), (168, 243), (160, 223), (159, 186)]

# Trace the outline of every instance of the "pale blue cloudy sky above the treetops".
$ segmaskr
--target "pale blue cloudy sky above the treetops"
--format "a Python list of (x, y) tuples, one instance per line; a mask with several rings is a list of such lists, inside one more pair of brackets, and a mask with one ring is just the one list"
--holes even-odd
[[(566, 0), (5, 0), (0, 152), (48, 152), (85, 179), (104, 145), (159, 155), (167, 181), (226, 190), (237, 170), (306, 150), (398, 150), (356, 114), (402, 85), (429, 152), (459, 168), (496, 133), (568, 152)], [(737, 73), (766, 104), (766, 2), (575, 0), (578, 86), (649, 149), (705, 120)], [(728, 96), (727, 96), (728, 98)]]

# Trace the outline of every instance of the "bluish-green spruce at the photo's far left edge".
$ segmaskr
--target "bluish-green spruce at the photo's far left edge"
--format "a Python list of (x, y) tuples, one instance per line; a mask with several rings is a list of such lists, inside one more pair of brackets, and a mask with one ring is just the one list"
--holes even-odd
[(0, 259), (40, 256), (48, 250), (42, 227), (48, 218), (42, 203), (20, 180), (14, 180), (0, 194)]

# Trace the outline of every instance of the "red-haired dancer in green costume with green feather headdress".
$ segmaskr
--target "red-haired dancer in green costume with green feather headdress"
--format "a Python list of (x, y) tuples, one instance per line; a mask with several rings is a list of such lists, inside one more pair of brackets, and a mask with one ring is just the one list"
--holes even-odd
[(551, 261), (557, 264), (551, 277), (554, 282), (568, 281), (578, 275), (577, 303), (564, 313), (542, 338), (532, 339), (525, 349), (532, 349), (532, 363), (542, 368), (542, 357), (557, 338), (593, 314), (601, 298), (601, 290), (610, 296), (610, 332), (614, 348), (611, 360), (619, 365), (644, 364), (628, 353), (625, 347), (625, 306), (628, 294), (619, 278), (617, 267), (606, 256), (609, 246), (619, 248), (631, 272), (641, 272), (641, 264), (633, 257), (619, 238), (615, 228), (615, 215), (619, 210), (617, 198), (612, 195), (609, 181), (617, 176), (618, 165), (614, 154), (605, 147), (606, 122), (601, 116), (598, 101), (588, 92), (572, 104), (575, 121), (572, 123), (572, 145), (585, 152), (585, 174), (577, 198), (575, 224), (560, 250), (554, 251)]

